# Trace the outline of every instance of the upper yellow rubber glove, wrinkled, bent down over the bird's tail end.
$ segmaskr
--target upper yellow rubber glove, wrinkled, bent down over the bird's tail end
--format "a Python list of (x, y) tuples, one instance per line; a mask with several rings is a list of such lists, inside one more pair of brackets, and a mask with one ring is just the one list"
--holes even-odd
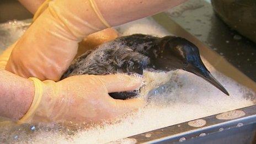
[[(77, 9), (78, 4), (84, 9)], [(25, 78), (58, 81), (76, 56), (78, 42), (106, 28), (92, 6), (89, 0), (56, 0), (46, 9), (42, 6), (44, 12), (35, 14), (40, 16), (18, 40), (6, 70)]]

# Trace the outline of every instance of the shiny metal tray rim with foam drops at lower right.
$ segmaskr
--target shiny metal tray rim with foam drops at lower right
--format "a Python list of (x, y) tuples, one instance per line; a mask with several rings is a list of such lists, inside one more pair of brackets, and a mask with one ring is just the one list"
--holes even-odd
[[(210, 136), (217, 132), (238, 129), (239, 127), (255, 124), (255, 105), (239, 110), (244, 111), (246, 115), (242, 116), (241, 118), (235, 118), (232, 120), (219, 120), (216, 119), (217, 115), (212, 115), (204, 118), (204, 120), (207, 121), (207, 124), (202, 127), (189, 126), (187, 122), (184, 122), (182, 124), (164, 127), (163, 129), (158, 129), (144, 134), (131, 136), (129, 138), (135, 138), (137, 140), (137, 143), (172, 143), (189, 141), (193, 138)], [(146, 134), (148, 133), (151, 134), (150, 137), (146, 137)]]

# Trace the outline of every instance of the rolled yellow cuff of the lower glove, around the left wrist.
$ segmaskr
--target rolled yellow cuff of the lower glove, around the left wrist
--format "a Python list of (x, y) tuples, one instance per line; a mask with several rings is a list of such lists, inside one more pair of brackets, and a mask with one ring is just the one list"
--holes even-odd
[(23, 118), (17, 122), (18, 124), (24, 124), (29, 122), (29, 120), (35, 113), (42, 99), (42, 93), (43, 93), (42, 82), (35, 77), (31, 77), (29, 79), (34, 82), (34, 86), (35, 86), (34, 98), (33, 98), (32, 104), (30, 105), (29, 110), (26, 112)]

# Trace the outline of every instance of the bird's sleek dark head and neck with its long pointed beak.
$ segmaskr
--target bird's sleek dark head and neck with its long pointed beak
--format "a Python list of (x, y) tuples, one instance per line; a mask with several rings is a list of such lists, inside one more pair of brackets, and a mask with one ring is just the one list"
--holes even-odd
[(165, 36), (158, 40), (158, 49), (152, 50), (151, 55), (154, 57), (152, 63), (156, 70), (181, 69), (194, 73), (229, 95), (207, 70), (200, 58), (198, 47), (190, 41), (175, 36)]

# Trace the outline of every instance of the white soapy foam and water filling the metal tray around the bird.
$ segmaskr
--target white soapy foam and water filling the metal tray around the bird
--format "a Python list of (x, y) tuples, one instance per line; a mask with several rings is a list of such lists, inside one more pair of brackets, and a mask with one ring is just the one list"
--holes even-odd
[[(6, 24), (4, 27), (10, 25), (12, 24)], [(1, 26), (0, 28), (2, 29)], [(152, 19), (137, 20), (116, 29), (122, 35), (134, 33), (154, 36), (170, 35)], [(19, 31), (19, 33), (21, 32)], [(14, 30), (10, 35), (20, 34)], [(0, 47), (5, 47), (6, 42), (10, 44), (12, 41), (13, 39), (2, 41), (0, 38)], [(141, 91), (143, 93), (149, 92), (148, 97), (150, 99), (148, 105), (136, 113), (120, 118), (111, 124), (106, 122), (106, 124), (91, 126), (87, 129), (83, 126), (76, 126), (76, 124), (73, 124), (73, 127), (57, 124), (2, 126), (0, 128), (0, 142), (106, 143), (254, 104), (254, 92), (223, 76), (207, 61), (203, 61), (212, 75), (228, 90), (230, 97), (211, 86), (204, 79), (182, 70), (168, 73), (145, 71), (143, 77), (145, 83), (148, 84)], [(156, 85), (159, 86), (152, 90)], [(133, 143), (135, 141), (126, 138), (119, 140), (119, 142)]]

